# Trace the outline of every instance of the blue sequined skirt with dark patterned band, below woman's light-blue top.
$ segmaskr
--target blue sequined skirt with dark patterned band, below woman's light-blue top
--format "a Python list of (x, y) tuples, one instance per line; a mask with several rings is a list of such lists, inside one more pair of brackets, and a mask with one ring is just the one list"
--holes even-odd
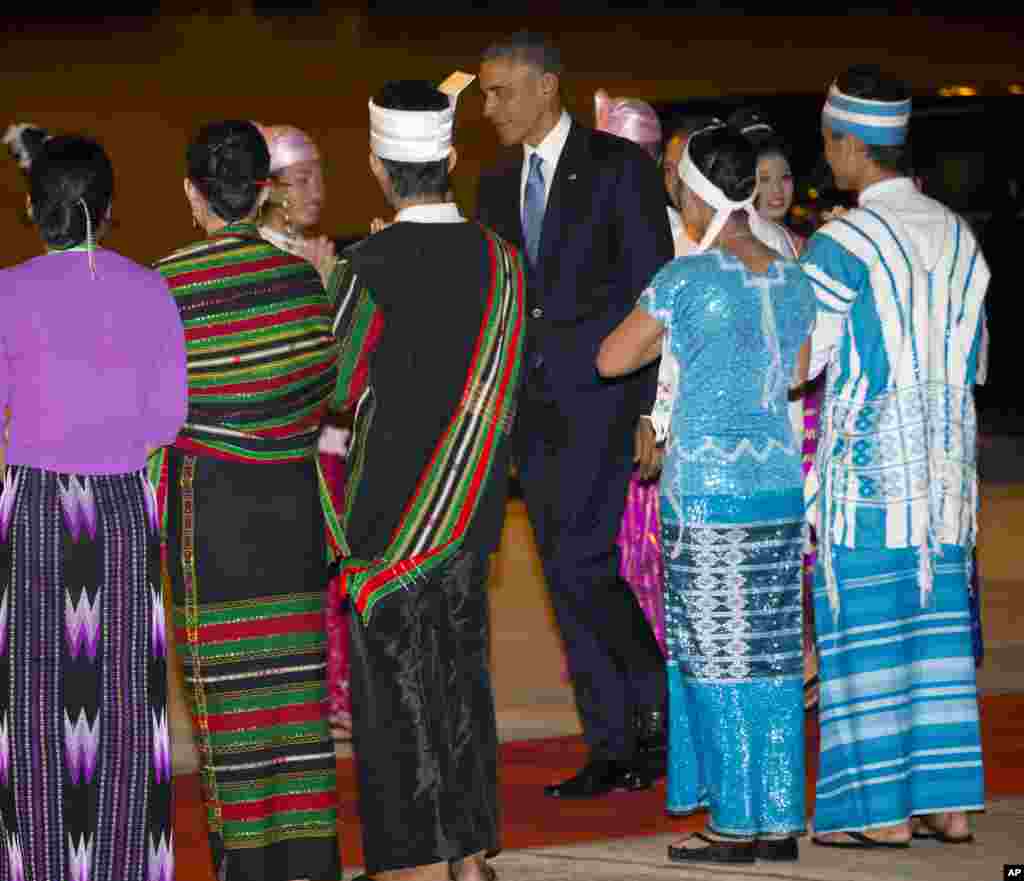
[(782, 507), (788, 517), (663, 526), (668, 810), (707, 807), (725, 835), (806, 824), (799, 491)]

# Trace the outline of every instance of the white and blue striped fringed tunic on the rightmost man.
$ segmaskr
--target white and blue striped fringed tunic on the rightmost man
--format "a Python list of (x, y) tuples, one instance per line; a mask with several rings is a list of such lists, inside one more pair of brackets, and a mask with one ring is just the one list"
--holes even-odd
[(988, 266), (963, 218), (906, 177), (864, 190), (801, 262), (818, 303), (811, 373), (828, 367), (807, 504), (831, 611), (831, 545), (919, 548), (924, 601), (939, 545), (975, 539)]

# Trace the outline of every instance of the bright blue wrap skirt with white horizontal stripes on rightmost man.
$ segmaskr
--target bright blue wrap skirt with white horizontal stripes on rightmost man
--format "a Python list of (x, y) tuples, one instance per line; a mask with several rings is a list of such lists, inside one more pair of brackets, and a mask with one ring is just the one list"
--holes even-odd
[(831, 552), (838, 624), (820, 564), (814, 592), (821, 677), (815, 831), (981, 809), (969, 551), (942, 546), (925, 609), (915, 549)]

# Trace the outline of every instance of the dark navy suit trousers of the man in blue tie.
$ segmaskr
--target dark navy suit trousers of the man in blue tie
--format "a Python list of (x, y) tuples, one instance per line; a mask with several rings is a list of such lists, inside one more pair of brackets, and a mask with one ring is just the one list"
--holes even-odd
[(657, 640), (618, 576), (635, 413), (615, 388), (556, 392), (547, 370), (527, 369), (519, 479), (591, 756), (629, 759), (634, 711), (660, 709), (667, 689)]

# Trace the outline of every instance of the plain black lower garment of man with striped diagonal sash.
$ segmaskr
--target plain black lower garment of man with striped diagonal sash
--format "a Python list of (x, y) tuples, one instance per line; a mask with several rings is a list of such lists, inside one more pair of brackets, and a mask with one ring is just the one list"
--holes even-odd
[(461, 550), (352, 612), (352, 745), (371, 875), (495, 853), (498, 733), (488, 670), (488, 560)]

